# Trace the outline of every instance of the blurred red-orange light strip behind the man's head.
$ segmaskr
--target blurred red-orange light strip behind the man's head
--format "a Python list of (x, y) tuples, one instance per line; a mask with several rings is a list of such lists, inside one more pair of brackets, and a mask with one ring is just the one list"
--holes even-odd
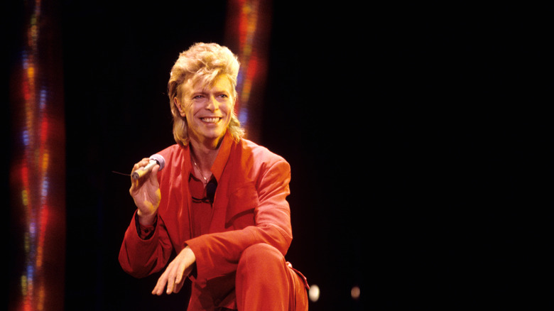
[(257, 140), (266, 80), (271, 1), (229, 0), (227, 45), (239, 57), (237, 115), (249, 139)]

